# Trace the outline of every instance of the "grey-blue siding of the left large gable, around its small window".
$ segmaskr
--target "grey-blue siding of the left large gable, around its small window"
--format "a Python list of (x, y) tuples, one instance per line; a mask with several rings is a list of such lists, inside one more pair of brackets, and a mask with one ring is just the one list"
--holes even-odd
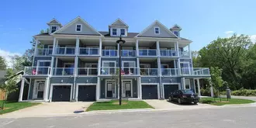
[[(76, 25), (81, 24), (81, 32), (76, 32)], [(77, 22), (71, 24), (71, 26), (67, 26), (66, 29), (63, 29), (61, 34), (87, 34), (87, 35), (99, 35), (95, 30), (89, 28), (81, 19), (78, 19)]]

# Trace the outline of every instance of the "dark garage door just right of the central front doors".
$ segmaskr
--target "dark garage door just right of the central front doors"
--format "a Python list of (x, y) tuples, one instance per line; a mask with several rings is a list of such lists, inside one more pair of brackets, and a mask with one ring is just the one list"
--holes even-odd
[(142, 85), (142, 99), (158, 99), (157, 85)]

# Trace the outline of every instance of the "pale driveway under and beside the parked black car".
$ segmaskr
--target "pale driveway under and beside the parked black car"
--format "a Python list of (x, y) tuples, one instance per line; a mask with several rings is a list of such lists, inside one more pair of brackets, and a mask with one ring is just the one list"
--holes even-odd
[(159, 100), (159, 99), (147, 99), (144, 100), (150, 106), (153, 106), (155, 109), (201, 109), (201, 108), (213, 108), (216, 106), (211, 106), (207, 104), (198, 103), (197, 105), (194, 104), (182, 104), (179, 105), (176, 102), (168, 102), (167, 100)]

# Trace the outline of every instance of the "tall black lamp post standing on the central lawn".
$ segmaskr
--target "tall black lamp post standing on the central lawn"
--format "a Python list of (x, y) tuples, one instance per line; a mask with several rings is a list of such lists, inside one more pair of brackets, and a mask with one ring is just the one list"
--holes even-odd
[(122, 105), (122, 80), (121, 80), (121, 43), (126, 43), (126, 40), (122, 40), (122, 35), (120, 34), (119, 40), (116, 40), (119, 45), (119, 106)]

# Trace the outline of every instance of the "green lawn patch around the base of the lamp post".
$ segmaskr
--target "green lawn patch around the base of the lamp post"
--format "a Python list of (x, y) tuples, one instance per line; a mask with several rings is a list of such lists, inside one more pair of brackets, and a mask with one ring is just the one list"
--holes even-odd
[(86, 111), (94, 110), (111, 110), (111, 109), (154, 109), (144, 101), (123, 101), (122, 106), (119, 106), (118, 100), (112, 100), (110, 102), (95, 102), (86, 109)]

